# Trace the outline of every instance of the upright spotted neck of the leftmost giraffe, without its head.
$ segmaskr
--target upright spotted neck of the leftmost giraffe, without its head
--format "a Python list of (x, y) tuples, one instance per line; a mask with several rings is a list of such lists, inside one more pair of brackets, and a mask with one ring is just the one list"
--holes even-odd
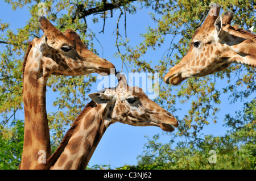
[(37, 169), (51, 155), (46, 112), (46, 83), (49, 74), (42, 68), (39, 50), (33, 49), (32, 45), (30, 48), (32, 49), (27, 52), (23, 66), (25, 119), (20, 169)]

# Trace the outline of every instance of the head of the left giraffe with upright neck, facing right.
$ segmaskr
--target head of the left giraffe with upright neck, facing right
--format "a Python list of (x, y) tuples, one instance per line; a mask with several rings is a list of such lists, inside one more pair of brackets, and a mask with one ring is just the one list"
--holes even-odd
[(44, 71), (54, 75), (110, 74), (110, 70), (114, 73), (115, 66), (88, 50), (75, 31), (67, 29), (62, 33), (44, 16), (38, 22), (44, 35), (32, 40), (36, 50), (31, 57), (40, 59)]

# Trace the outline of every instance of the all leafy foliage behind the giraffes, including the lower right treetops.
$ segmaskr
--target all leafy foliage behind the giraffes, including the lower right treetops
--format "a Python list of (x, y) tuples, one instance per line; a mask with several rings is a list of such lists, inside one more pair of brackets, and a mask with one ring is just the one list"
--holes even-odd
[[(130, 72), (158, 72), (162, 78), (168, 69), (176, 65), (187, 53), (189, 41), (196, 28), (201, 26), (207, 16), (209, 3), (212, 1), (130, 1), (124, 0), (122, 6), (104, 11), (105, 1), (43, 1), (46, 3), (47, 18), (61, 31), (72, 28), (77, 31), (88, 49), (97, 54), (94, 49), (96, 32), (90, 30), (86, 23), (87, 16), (82, 17), (86, 10), (98, 10), (90, 16), (92, 22), (102, 23), (105, 19), (118, 18), (136, 14), (139, 9), (150, 9), (154, 26), (148, 26), (142, 34), (141, 43), (131, 45), (129, 33), (120, 35), (116, 32), (117, 49), (115, 57), (121, 58)], [(106, 1), (112, 3), (114, 1)], [(255, 23), (256, 4), (253, 0), (246, 1), (213, 1), (222, 5), (222, 9), (234, 11), (233, 24), (250, 28)], [(13, 10), (24, 8), (30, 11), (30, 17), (24, 27), (12, 30), (9, 22), (0, 20), (0, 120), (1, 151), (15, 150), (15, 156), (7, 158), (1, 152), (1, 169), (16, 169), (20, 149), (11, 146), (21, 145), (22, 138), (14, 134), (21, 122), (15, 119), (15, 113), (22, 110), (22, 61), (26, 52), (27, 41), (35, 36), (41, 37), (39, 30), (38, 4), (34, 1), (6, 1)], [(96, 8), (97, 7), (97, 8)], [(224, 11), (221, 11), (223, 14)], [(118, 21), (118, 23), (121, 23)], [(123, 24), (126, 26), (126, 22)], [(132, 26), (132, 25), (130, 25)], [(111, 35), (105, 35), (111, 36)], [(137, 37), (135, 37), (136, 39)], [(166, 47), (163, 54), (158, 50)], [(158, 53), (159, 60), (150, 60), (149, 52)], [(236, 115), (226, 115), (226, 127), (230, 129), (224, 136), (214, 137), (204, 135), (203, 128), (218, 121), (219, 105), (222, 97), (229, 97), (230, 104), (243, 102), (255, 95), (255, 68), (244, 65), (232, 65), (225, 71), (202, 78), (189, 78), (181, 86), (166, 85), (159, 82), (159, 97), (155, 100), (162, 107), (172, 112), (179, 120), (179, 128), (168, 144), (158, 141), (155, 136), (146, 145), (146, 150), (139, 156), (138, 166), (124, 166), (122, 169), (255, 169), (255, 98), (245, 103), (243, 110)], [(51, 129), (52, 146), (55, 150), (65, 133), (66, 125), (70, 125), (77, 117), (83, 105), (88, 102), (86, 94), (90, 91), (96, 77), (92, 75), (80, 77), (51, 76), (48, 88), (59, 93), (53, 100), (56, 112), (48, 112)], [(220, 84), (219, 82), (222, 82)], [(47, 89), (48, 89), (47, 88)], [(8, 101), (6, 101), (8, 100)], [(247, 101), (247, 100), (246, 100)], [(188, 107), (186, 113), (179, 115), (183, 107)], [(12, 124), (9, 122), (11, 121)], [(5, 125), (10, 125), (9, 128)], [(19, 130), (21, 132), (21, 129)], [(10, 136), (12, 135), (12, 136)], [(16, 135), (16, 136), (14, 136)], [(23, 135), (23, 134), (22, 134)], [(175, 141), (182, 138), (183, 141)], [(178, 139), (178, 140), (179, 140)], [(176, 144), (175, 148), (174, 145)], [(3, 145), (3, 146), (2, 146)], [(217, 151), (217, 163), (208, 163), (209, 150)], [(14, 155), (10, 154), (10, 155)], [(10, 167), (6, 167), (6, 165)], [(108, 166), (106, 166), (108, 167)], [(94, 167), (98, 169), (100, 167)]]

